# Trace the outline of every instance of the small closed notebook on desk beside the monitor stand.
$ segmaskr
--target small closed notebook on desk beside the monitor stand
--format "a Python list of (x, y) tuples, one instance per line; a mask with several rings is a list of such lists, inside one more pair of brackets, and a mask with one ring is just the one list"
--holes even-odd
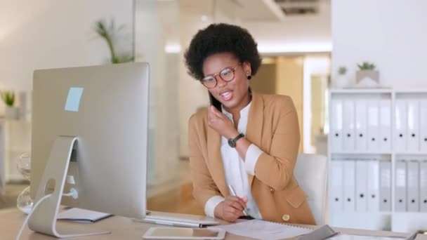
[(81, 208), (70, 208), (66, 211), (58, 213), (58, 217), (56, 219), (76, 222), (96, 222), (110, 216), (110, 213), (89, 211)]

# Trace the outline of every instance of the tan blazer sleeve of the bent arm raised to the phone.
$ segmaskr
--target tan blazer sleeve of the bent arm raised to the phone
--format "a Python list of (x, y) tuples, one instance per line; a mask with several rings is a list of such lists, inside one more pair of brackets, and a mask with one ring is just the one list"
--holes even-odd
[(282, 98), (278, 110), (282, 112), (272, 134), (270, 152), (259, 156), (255, 176), (266, 185), (281, 190), (294, 178), (300, 133), (298, 115), (291, 98)]

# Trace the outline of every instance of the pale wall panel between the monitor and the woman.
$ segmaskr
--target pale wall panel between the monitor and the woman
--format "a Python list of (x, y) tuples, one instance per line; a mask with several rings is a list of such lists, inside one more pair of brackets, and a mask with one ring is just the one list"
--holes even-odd
[(178, 53), (165, 52), (166, 44), (179, 39), (178, 19), (176, 1), (136, 1), (136, 60), (150, 63), (149, 185), (168, 182), (179, 174), (179, 59)]

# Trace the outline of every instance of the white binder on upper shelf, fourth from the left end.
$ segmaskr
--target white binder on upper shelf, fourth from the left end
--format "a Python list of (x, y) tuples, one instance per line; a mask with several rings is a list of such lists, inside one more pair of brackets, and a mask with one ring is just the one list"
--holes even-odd
[(368, 102), (368, 150), (371, 152), (379, 149), (379, 103), (378, 100)]

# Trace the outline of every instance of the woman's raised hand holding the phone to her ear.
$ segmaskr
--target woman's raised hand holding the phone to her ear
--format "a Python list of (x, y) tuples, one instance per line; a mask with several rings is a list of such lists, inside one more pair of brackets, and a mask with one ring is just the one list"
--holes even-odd
[(208, 109), (208, 125), (227, 139), (235, 138), (239, 135), (232, 121), (213, 105), (209, 106)]

